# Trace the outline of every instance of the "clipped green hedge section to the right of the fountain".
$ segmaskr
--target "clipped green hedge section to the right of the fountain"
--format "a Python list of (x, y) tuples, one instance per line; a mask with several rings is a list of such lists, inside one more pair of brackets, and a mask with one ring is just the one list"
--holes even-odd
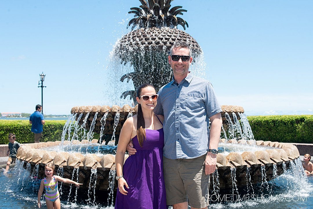
[(313, 143), (313, 115), (248, 116), (255, 140)]

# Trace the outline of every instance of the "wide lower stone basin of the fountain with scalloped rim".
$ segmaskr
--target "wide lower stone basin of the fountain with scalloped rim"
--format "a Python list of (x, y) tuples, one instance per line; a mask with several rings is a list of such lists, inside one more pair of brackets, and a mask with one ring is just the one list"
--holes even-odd
[[(72, 143), (85, 145), (86, 143), (95, 144), (97, 141), (75, 140)], [(252, 145), (248, 145), (248, 142)], [(216, 175), (218, 175), (219, 181), (216, 181), (216, 184), (211, 184), (211, 189), (214, 189), (213, 186), (217, 184), (219, 188), (232, 188), (234, 181), (232, 169), (235, 170), (233, 173), (235, 174), (236, 186), (238, 187), (247, 185), (247, 172), (251, 176), (251, 184), (264, 181), (261, 168), (265, 171), (266, 181), (270, 181), (283, 174), (289, 168), (290, 163), (300, 156), (298, 149), (294, 145), (271, 143), (270, 141), (265, 143), (264, 141), (255, 141), (255, 143), (252, 143), (253, 141), (249, 140), (248, 142), (241, 140), (242, 150), (228, 152), (225, 147), (235, 146), (234, 140), (228, 140), (228, 142), (225, 142), (224, 139), (220, 140), (219, 150), (224, 149), (224, 151), (218, 153), (217, 171), (211, 174), (210, 177), (211, 182), (214, 182), (216, 181)], [(27, 164), (30, 164), (32, 173), (34, 173), (33, 170), (38, 165), (38, 171), (36, 171), (38, 178), (44, 178), (44, 165), (48, 162), (53, 162), (57, 172), (62, 170), (64, 178), (78, 179), (78, 182), (83, 183), (82, 188), (88, 188), (92, 172), (96, 172), (97, 179), (95, 180), (94, 188), (96, 190), (108, 190), (110, 188), (110, 172), (115, 172), (115, 155), (105, 154), (98, 156), (92, 153), (83, 155), (79, 152), (69, 153), (47, 150), (49, 147), (69, 144), (69, 141), (64, 141), (62, 144), (61, 141), (55, 141), (23, 145), (18, 149), (17, 159), (24, 163), (23, 167), (25, 169)], [(247, 147), (250, 147), (249, 150), (255, 151), (244, 151)], [(125, 155), (125, 160), (127, 157), (128, 155)], [(116, 189), (116, 185), (114, 189)]]

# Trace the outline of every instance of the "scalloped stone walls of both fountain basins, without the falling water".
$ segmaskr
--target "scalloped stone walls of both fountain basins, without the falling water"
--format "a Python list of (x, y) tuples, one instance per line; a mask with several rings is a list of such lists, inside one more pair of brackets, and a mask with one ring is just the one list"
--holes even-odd
[[(223, 105), (222, 108), (223, 126), (225, 128), (228, 127), (224, 119), (226, 112), (229, 115), (232, 115), (231, 113), (234, 112), (236, 116), (238, 116), (238, 113), (244, 112), (244, 109), (239, 106)], [(103, 123), (101, 124), (100, 120), (103, 118), (105, 113), (108, 113), (105, 119), (104, 133), (118, 135), (122, 124), (129, 116), (129, 112), (135, 114), (136, 110), (136, 107), (131, 108), (128, 105), (125, 105), (122, 108), (117, 105), (114, 105), (111, 108), (108, 106), (81, 106), (73, 107), (71, 113), (83, 114), (83, 117), (80, 117), (81, 120), (78, 121), (79, 124), (83, 124), (83, 119), (89, 113), (89, 117), (87, 119), (88, 122), (86, 121), (85, 127), (86, 129), (89, 129), (94, 115), (98, 112), (97, 120), (95, 120), (96, 122), (93, 130), (94, 132), (99, 132), (99, 130), (101, 130), (101, 125), (103, 125)], [(117, 112), (120, 113), (120, 117), (114, 132), (112, 129), (112, 124), (114, 123)], [(76, 115), (76, 119), (78, 118), (78, 114)], [(57, 169), (63, 169), (63, 177), (69, 179), (78, 179), (80, 183), (83, 183), (82, 188), (87, 188), (90, 185), (91, 173), (96, 171), (96, 181), (93, 186), (96, 190), (107, 190), (109, 188), (109, 178), (112, 178), (112, 176), (110, 176), (110, 172), (112, 173), (112, 171), (115, 170), (115, 156), (106, 154), (102, 157), (99, 157), (96, 154), (82, 155), (81, 153), (45, 150), (47, 147), (66, 146), (70, 143), (74, 145), (95, 145), (95, 143), (98, 143), (98, 140), (72, 140), (71, 142), (65, 140), (63, 142), (41, 142), (38, 144), (23, 145), (18, 149), (17, 158), (24, 162), (23, 167), (25, 169), (27, 169), (27, 164), (30, 165), (30, 172), (33, 172), (35, 166), (38, 165), (37, 175), (39, 178), (44, 177), (44, 165), (48, 162), (53, 162)], [(219, 153), (217, 155), (217, 172), (219, 180), (216, 182), (219, 188), (233, 187), (233, 176), (236, 178), (236, 185), (238, 187), (247, 186), (247, 172), (249, 172), (249, 175), (251, 176), (251, 180), (249, 180), (251, 181), (251, 184), (262, 182), (264, 181), (264, 178), (262, 179), (261, 168), (265, 170), (266, 181), (269, 181), (277, 176), (280, 176), (285, 171), (285, 169), (290, 166), (290, 163), (295, 161), (295, 159), (300, 156), (297, 147), (287, 143), (245, 139), (230, 139), (226, 141), (225, 139), (221, 139), (220, 145), (223, 144), (264, 146), (265, 148), (268, 147), (269, 149), (259, 151), (244, 151), (241, 154), (239, 152), (230, 152), (226, 156)], [(128, 155), (125, 155), (125, 160), (127, 157)], [(249, 171), (247, 168), (249, 168)], [(275, 173), (273, 173), (273, 171), (275, 171)], [(214, 179), (214, 175), (211, 175), (211, 182), (214, 181), (216, 181), (216, 179)], [(211, 187), (213, 187), (213, 185), (214, 184), (211, 184)]]

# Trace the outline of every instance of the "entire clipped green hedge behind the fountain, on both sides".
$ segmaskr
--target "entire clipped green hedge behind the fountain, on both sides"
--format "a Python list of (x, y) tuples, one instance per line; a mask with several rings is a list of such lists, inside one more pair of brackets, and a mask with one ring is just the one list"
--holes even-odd
[[(248, 116), (255, 140), (313, 143), (313, 115)], [(66, 120), (46, 120), (42, 142), (61, 140)], [(14, 133), (20, 143), (33, 143), (34, 134), (28, 120), (0, 120), (0, 144), (8, 144)], [(98, 139), (99, 134), (94, 135)], [(67, 135), (65, 136), (67, 139)]]

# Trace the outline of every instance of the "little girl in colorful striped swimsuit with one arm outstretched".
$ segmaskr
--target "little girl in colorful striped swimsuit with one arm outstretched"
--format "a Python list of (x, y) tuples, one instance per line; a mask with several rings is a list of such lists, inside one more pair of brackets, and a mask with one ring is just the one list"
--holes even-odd
[(68, 184), (75, 184), (79, 188), (80, 183), (76, 181), (72, 181), (70, 179), (65, 179), (60, 176), (56, 176), (55, 174), (55, 167), (53, 163), (48, 163), (44, 166), (44, 174), (46, 177), (41, 180), (40, 188), (38, 191), (38, 207), (41, 207), (41, 196), (44, 191), (44, 188), (46, 190), (45, 198), (46, 198), (46, 205), (48, 209), (60, 209), (61, 203), (60, 203), (60, 194), (58, 191), (58, 181), (68, 183)]

